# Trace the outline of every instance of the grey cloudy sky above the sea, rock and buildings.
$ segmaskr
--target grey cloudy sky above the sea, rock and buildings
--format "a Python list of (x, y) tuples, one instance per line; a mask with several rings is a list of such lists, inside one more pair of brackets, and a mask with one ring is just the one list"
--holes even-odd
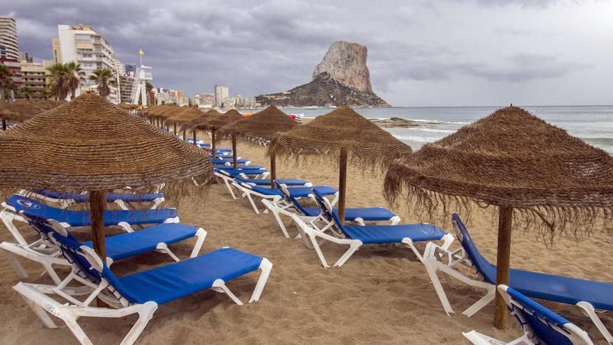
[[(146, 3), (146, 5), (143, 5)], [(22, 51), (51, 59), (57, 24), (90, 24), (154, 85), (187, 94), (284, 91), (334, 40), (368, 47), (397, 106), (613, 104), (613, 1), (0, 0)]]

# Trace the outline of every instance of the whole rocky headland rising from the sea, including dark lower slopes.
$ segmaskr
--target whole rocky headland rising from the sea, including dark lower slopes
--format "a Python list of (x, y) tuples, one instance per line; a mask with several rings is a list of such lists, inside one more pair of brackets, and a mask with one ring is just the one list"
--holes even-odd
[(367, 55), (363, 45), (336, 41), (315, 67), (311, 82), (285, 92), (258, 95), (256, 101), (263, 107), (389, 107), (373, 92)]

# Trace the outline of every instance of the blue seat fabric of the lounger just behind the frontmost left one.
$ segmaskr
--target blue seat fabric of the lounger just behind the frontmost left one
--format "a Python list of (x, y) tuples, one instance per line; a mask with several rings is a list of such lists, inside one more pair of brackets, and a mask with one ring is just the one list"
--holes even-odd
[[(187, 238), (196, 236), (197, 227), (180, 223), (166, 223), (147, 229), (122, 233), (121, 235), (107, 237), (107, 256), (113, 261), (125, 259), (138, 254), (153, 252), (158, 243), (172, 245)], [(84, 245), (93, 247), (91, 242)]]

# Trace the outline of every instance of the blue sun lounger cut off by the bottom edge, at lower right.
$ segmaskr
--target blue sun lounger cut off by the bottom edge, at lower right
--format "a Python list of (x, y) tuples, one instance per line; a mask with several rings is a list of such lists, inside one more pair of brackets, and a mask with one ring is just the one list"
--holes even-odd
[(524, 334), (512, 342), (506, 343), (474, 330), (463, 333), (472, 344), (593, 345), (587, 332), (515, 289), (506, 285), (499, 285), (498, 291), (509, 307), (509, 312), (512, 316), (515, 316), (515, 320), (520, 324)]

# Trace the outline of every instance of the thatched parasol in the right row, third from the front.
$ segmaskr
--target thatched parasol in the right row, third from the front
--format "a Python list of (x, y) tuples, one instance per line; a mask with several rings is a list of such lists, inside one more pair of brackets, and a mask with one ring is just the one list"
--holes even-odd
[[(247, 118), (236, 121), (219, 128), (217, 135), (222, 137), (235, 137), (249, 141), (252, 144), (267, 146), (277, 132), (287, 132), (298, 123), (288, 114), (281, 112), (277, 107), (270, 106)], [(233, 150), (233, 163), (236, 169), (237, 152)], [(274, 187), (277, 178), (277, 164), (274, 155), (270, 155), (270, 185)]]

